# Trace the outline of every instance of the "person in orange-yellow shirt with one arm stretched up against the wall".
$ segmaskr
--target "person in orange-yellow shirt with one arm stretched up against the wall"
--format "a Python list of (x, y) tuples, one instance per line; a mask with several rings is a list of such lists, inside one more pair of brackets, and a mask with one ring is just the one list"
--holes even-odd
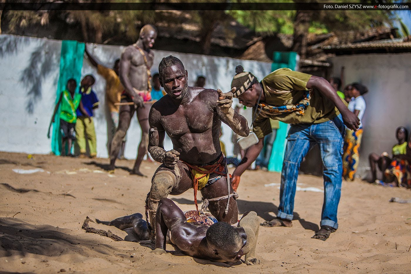
[[(110, 111), (111, 118), (111, 138), (113, 138), (115, 130), (118, 128), (118, 109), (119, 106), (116, 105), (120, 102), (121, 93), (124, 91), (124, 87), (120, 82), (119, 73), (119, 64), (120, 59), (114, 61), (113, 68), (105, 67), (96, 62), (96, 60), (90, 55), (85, 47), (85, 54), (90, 60), (90, 63), (97, 68), (97, 73), (100, 74), (106, 80), (106, 103)], [(111, 145), (111, 139), (108, 140), (109, 151)], [(120, 147), (120, 152), (118, 153), (118, 159), (124, 159), (124, 149), (126, 144), (126, 136), (122, 140)]]

